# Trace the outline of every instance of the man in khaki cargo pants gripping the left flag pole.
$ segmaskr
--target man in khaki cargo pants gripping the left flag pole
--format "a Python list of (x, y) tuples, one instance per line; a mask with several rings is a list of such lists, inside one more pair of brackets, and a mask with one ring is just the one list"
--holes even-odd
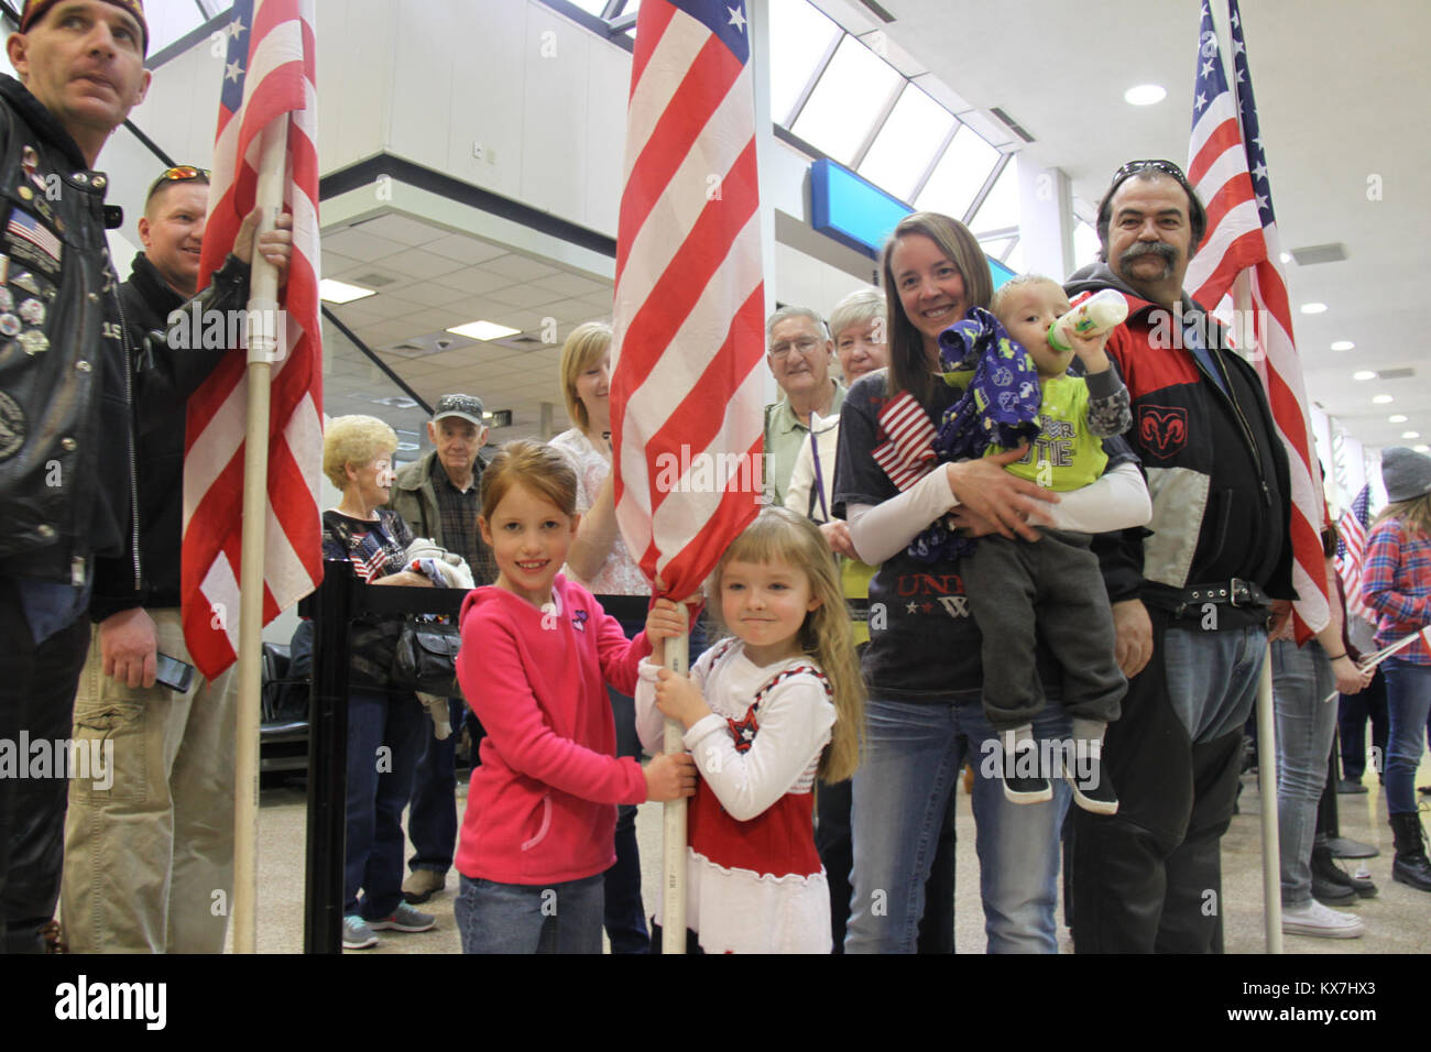
[[(213, 681), (195, 671), (186, 688), (155, 678), (160, 654), (192, 664), (179, 615), (187, 398), (230, 354), (206, 349), (203, 335), (218, 319), (233, 331), (228, 318), (243, 313), (258, 226), (255, 212), (199, 292), (207, 212), (209, 172), (165, 170), (139, 220), (145, 250), (119, 286), (136, 361), (145, 578), (140, 591), (112, 588), (100, 573), (90, 601), (97, 631), (74, 698), (74, 739), (103, 737), (113, 759), (102, 779), (70, 780), (62, 912), (74, 952), (223, 952), (233, 890), (233, 670)], [(292, 252), (288, 226), (285, 218), (258, 240), (280, 278)]]

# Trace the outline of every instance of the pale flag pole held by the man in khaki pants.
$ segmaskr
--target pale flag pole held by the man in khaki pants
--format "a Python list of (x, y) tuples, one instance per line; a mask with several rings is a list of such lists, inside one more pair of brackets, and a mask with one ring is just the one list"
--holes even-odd
[[(283, 206), (288, 119), (263, 129), (255, 205), (258, 233), (272, 230)], [(243, 548), (239, 573), (239, 698), (235, 729), (233, 950), (258, 940), (259, 693), (263, 654), (263, 540), (268, 522), (269, 385), (278, 348), (278, 268), (255, 245), (249, 281), (249, 406), (243, 438)]]

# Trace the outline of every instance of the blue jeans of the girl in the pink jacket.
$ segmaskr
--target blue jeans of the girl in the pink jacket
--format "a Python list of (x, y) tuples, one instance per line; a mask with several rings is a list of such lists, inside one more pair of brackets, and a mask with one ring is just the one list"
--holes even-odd
[(601, 873), (557, 885), (462, 877), (452, 910), (464, 953), (601, 953)]

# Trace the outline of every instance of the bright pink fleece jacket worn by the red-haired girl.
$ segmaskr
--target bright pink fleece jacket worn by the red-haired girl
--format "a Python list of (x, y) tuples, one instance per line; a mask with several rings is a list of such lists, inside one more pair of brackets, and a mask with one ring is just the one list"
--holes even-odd
[(557, 575), (547, 613), (487, 585), (462, 604), (456, 674), (487, 729), (472, 771), (458, 872), (505, 885), (595, 876), (615, 863), (618, 803), (645, 774), (617, 759), (605, 684), (635, 693), (645, 633), (627, 641), (591, 593)]

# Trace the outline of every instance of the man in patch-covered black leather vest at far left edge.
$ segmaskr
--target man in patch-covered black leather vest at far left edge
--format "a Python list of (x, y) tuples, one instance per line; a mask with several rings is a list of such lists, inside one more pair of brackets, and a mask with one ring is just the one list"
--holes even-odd
[(104, 242), (117, 209), (106, 209), (94, 163), (149, 87), (139, 0), (29, 0), (20, 27), (6, 43), (20, 82), (0, 77), (0, 750), (10, 747), (9, 767), (0, 751), (0, 949), (10, 952), (43, 949), (59, 896), (63, 743), (94, 557), (113, 557), (124, 581), (114, 587), (140, 585), (127, 352)]

